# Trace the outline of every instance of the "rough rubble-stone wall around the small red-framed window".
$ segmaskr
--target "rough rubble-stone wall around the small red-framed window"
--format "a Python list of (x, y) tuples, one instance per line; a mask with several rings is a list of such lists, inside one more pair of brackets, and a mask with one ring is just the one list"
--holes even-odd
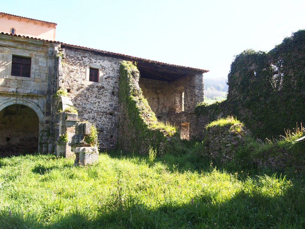
[[(119, 65), (121, 60), (96, 53), (65, 49), (63, 87), (78, 109), (78, 117), (99, 128), (100, 148), (114, 148), (117, 143)], [(99, 69), (99, 82), (89, 81), (89, 68)]]

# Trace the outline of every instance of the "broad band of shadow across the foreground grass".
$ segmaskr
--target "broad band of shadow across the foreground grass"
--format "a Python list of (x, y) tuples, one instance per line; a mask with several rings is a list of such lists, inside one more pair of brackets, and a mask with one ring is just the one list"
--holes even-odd
[[(290, 189), (293, 189), (292, 187)], [(41, 213), (13, 211), (0, 213), (1, 228), (305, 228), (304, 194), (268, 197), (259, 191), (242, 190), (217, 203), (217, 193), (203, 190), (177, 204), (170, 198), (166, 204), (149, 207), (138, 198), (125, 196), (108, 199), (107, 206), (95, 211), (74, 210), (48, 222)]]

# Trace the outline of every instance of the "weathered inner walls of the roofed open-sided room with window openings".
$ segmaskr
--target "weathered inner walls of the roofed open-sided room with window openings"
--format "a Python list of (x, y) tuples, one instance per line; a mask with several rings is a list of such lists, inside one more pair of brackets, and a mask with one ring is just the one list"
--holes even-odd
[(159, 121), (176, 125), (183, 139), (202, 136), (199, 120), (194, 115), (196, 105), (203, 101), (202, 74), (172, 83), (140, 78), (139, 85)]

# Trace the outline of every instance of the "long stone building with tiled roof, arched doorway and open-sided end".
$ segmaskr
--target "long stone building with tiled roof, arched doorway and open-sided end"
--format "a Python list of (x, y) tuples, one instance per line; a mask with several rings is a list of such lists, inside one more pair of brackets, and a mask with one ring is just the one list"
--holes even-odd
[[(207, 70), (47, 40), (45, 34), (35, 33), (35, 27), (54, 29), (55, 38), (55, 23), (0, 13), (0, 25), (8, 17), (32, 23), (34, 32), (18, 34), (18, 24), (5, 30), (0, 26), (1, 154), (54, 153), (60, 133), (58, 110), (67, 105), (78, 109), (78, 119), (99, 128), (101, 149), (114, 148), (122, 60), (137, 62), (140, 87), (158, 119), (178, 125), (182, 138), (196, 135), (193, 113), (203, 101)], [(60, 88), (67, 96), (56, 98)]]

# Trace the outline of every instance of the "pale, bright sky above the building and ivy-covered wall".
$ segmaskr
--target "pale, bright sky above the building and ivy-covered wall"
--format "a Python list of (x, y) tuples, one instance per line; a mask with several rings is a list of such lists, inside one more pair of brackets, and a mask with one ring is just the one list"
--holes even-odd
[(269, 51), (305, 28), (304, 0), (2, 1), (0, 12), (57, 23), (56, 41), (210, 70)]

